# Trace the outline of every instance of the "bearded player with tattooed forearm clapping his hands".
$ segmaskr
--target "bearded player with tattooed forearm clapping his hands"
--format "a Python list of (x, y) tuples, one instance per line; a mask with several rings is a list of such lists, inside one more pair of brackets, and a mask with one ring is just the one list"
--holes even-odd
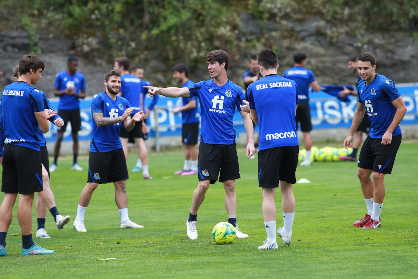
[(143, 120), (142, 111), (131, 114), (133, 108), (129, 102), (117, 95), (121, 86), (120, 74), (109, 70), (104, 74), (105, 91), (94, 95), (92, 99), (92, 139), (90, 142), (89, 172), (87, 185), (84, 187), (74, 220), (74, 228), (86, 232), (84, 213), (99, 184), (113, 182), (115, 185), (115, 202), (120, 213), (120, 228), (143, 228), (133, 223), (128, 216), (126, 179), (128, 171), (125, 154), (120, 142), (120, 123), (126, 131), (131, 131), (136, 122)]

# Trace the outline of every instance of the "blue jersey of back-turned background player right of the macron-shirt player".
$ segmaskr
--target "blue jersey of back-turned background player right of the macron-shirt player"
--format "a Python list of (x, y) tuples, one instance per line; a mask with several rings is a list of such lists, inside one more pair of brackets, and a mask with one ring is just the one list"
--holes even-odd
[(293, 80), (298, 85), (299, 102), (309, 101), (309, 84), (315, 81), (314, 72), (303, 67), (293, 67), (286, 70), (283, 77)]

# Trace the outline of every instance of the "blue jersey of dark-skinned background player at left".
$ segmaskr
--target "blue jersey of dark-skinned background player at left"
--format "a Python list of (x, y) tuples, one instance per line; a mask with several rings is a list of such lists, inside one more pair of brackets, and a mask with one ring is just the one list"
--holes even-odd
[[(86, 90), (86, 79), (83, 74), (76, 72), (74, 75), (68, 74), (68, 72), (60, 72), (56, 74), (54, 88), (59, 91), (67, 88), (74, 87), (77, 95), (81, 90)], [(76, 110), (79, 109), (79, 97), (75, 95), (64, 94), (59, 97), (58, 109), (59, 110)]]

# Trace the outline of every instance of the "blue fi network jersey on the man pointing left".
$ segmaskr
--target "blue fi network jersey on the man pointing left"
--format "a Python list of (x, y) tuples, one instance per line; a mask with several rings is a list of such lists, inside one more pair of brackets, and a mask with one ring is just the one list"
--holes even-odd
[(230, 80), (222, 86), (213, 79), (190, 85), (191, 97), (197, 97), (201, 109), (200, 142), (211, 144), (235, 143), (235, 130), (232, 118), (235, 108), (241, 111), (240, 105), (245, 100), (241, 87)]

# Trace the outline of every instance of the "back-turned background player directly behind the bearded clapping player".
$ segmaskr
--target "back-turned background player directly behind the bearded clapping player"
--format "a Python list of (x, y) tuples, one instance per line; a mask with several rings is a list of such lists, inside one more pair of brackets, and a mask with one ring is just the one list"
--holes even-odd
[[(145, 97), (146, 90), (142, 87), (146, 85), (143, 80), (135, 77), (133, 74), (130, 74), (129, 69), (129, 60), (126, 57), (118, 57), (115, 59), (115, 65), (113, 69), (121, 74), (122, 86), (120, 88), (120, 92), (118, 93), (119, 96), (126, 98), (130, 105), (133, 108), (133, 113), (137, 113), (140, 110), (143, 111), (143, 101)], [(145, 115), (146, 116), (146, 115)], [(138, 148), (138, 158), (142, 154), (140, 154), (140, 150), (146, 150), (145, 142), (144, 142), (144, 133), (143, 133), (143, 122), (138, 123), (135, 125), (132, 131), (126, 131), (124, 125), (122, 124), (120, 127), (120, 140), (122, 141), (123, 151), (125, 152), (125, 158), (128, 159), (128, 141), (129, 138), (134, 138), (135, 144)], [(149, 172), (148, 166), (148, 153), (146, 157), (142, 157), (143, 159), (143, 178), (144, 179), (152, 179)], [(132, 170), (133, 172), (139, 171), (139, 169)]]

